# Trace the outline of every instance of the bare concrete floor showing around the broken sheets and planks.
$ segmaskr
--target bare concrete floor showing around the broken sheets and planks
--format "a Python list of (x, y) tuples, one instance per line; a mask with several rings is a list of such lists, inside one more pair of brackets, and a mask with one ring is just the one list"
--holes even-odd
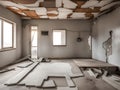
[[(77, 72), (74, 68), (75, 63), (71, 60), (54, 60), (53, 62), (66, 62), (70, 63), (73, 67), (73, 72)], [(13, 77), (18, 71), (10, 71), (0, 75), (0, 90), (57, 90), (57, 88), (35, 88), (35, 87), (25, 87), (25, 86), (6, 86), (4, 82), (8, 80), (8, 78)], [(83, 71), (84, 77), (72, 78), (75, 85), (78, 87), (78, 90), (116, 90), (114, 87), (103, 81), (102, 79), (96, 79), (90, 76), (86, 71)], [(56, 86), (58, 87), (68, 87), (65, 78), (49, 78), (55, 81)]]

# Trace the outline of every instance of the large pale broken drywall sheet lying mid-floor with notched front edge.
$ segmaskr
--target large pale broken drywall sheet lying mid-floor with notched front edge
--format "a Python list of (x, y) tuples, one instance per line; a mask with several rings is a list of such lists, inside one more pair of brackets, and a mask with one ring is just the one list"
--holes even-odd
[[(83, 76), (83, 73), (81, 71), (73, 73), (72, 67), (68, 63), (40, 63), (18, 85), (42, 87), (44, 80), (47, 80), (48, 77), (66, 77), (68, 85), (75, 86), (70, 77), (79, 76)], [(10, 81), (7, 82), (7, 85), (11, 84)], [(15, 82), (12, 81), (12, 84)]]

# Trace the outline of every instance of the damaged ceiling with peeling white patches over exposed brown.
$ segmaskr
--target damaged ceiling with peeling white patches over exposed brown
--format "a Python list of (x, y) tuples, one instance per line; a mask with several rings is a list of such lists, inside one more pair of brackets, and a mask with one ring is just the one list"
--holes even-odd
[(22, 19), (91, 19), (120, 5), (119, 0), (0, 0)]

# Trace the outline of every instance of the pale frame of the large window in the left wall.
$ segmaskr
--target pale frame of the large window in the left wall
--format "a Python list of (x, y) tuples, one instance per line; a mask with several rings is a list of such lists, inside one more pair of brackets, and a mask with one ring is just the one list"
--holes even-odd
[[(0, 49), (0, 52), (3, 52), (3, 51), (9, 51), (9, 50), (14, 50), (16, 49), (16, 23), (15, 22), (12, 22), (10, 20), (7, 20), (3, 17), (0, 17), (0, 20), (1, 20), (1, 49)], [(12, 25), (12, 46), (11, 47), (4, 47), (3, 46), (3, 43), (4, 43), (4, 35), (3, 35), (3, 22), (7, 22), (9, 24)]]

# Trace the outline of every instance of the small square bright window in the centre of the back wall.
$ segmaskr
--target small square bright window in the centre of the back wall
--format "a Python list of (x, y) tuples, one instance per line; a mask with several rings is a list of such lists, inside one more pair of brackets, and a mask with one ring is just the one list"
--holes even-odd
[(53, 45), (66, 45), (66, 30), (53, 30)]

